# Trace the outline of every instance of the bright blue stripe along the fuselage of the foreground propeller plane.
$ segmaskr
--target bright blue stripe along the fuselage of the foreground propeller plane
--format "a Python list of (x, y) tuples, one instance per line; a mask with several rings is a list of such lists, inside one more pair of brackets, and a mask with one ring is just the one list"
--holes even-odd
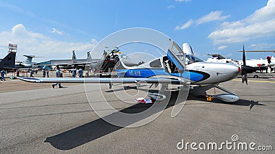
[[(172, 75), (175, 77), (180, 77), (179, 73), (167, 73), (164, 69), (157, 68), (138, 68), (133, 70), (116, 70), (118, 77), (153, 77), (155, 75)], [(191, 81), (197, 82), (205, 79), (205, 75), (199, 71), (189, 71), (185, 70), (184, 73), (181, 74), (181, 77), (185, 79), (190, 79)], [(208, 78), (208, 77), (207, 77)]]

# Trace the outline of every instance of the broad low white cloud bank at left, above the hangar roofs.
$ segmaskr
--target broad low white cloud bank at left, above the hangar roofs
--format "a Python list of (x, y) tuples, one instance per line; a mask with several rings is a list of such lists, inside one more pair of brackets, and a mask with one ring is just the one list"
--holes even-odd
[[(50, 59), (69, 59), (72, 50), (78, 51), (78, 58), (85, 58), (86, 51), (91, 51), (98, 41), (91, 39), (91, 42), (65, 42), (55, 40), (43, 34), (34, 33), (18, 24), (12, 27), (11, 31), (0, 32), (0, 50), (8, 51), (8, 44), (18, 44), (18, 60), (24, 60), (24, 54), (43, 56), (37, 61)], [(7, 53), (1, 52), (1, 57)], [(36, 61), (36, 60), (34, 60)]]

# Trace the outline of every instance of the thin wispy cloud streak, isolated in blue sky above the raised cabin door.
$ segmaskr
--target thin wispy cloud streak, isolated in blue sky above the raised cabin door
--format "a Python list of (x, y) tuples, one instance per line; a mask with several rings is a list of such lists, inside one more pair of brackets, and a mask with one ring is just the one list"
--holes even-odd
[(175, 30), (186, 29), (186, 28), (190, 27), (193, 23), (195, 23), (196, 25), (200, 25), (202, 23), (208, 23), (211, 21), (223, 21), (229, 17), (229, 16), (221, 16), (222, 13), (223, 13), (222, 11), (212, 11), (209, 14), (206, 14), (205, 16), (202, 16), (201, 18), (199, 18), (195, 21), (190, 19), (184, 25), (181, 25), (181, 26), (177, 25), (177, 27), (175, 27)]

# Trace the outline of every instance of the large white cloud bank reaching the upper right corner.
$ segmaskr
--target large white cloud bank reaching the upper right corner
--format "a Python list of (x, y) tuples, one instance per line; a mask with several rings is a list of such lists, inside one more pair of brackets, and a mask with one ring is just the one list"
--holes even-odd
[(218, 30), (209, 34), (214, 44), (243, 42), (253, 38), (275, 36), (275, 0), (256, 10), (250, 16), (232, 23), (222, 23)]

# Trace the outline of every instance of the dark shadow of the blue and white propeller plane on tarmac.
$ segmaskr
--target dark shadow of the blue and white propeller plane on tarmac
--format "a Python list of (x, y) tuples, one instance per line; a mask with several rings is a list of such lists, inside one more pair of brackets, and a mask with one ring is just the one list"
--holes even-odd
[[(168, 105), (166, 105), (165, 109), (169, 107), (173, 107), (175, 105), (175, 100), (177, 99), (178, 92), (172, 92), (170, 101), (168, 102)], [(196, 98), (196, 97), (188, 97), (188, 100), (198, 100), (198, 101), (206, 101), (206, 99)], [(221, 101), (212, 101), (211, 103), (223, 103)], [(226, 103), (227, 104), (227, 103)], [(248, 100), (239, 100), (236, 103), (228, 103), (230, 105), (242, 105), (242, 106), (250, 106), (250, 110), (254, 105), (263, 105), (259, 102), (254, 101), (248, 101)], [(135, 114), (140, 113), (145, 110), (147, 110), (149, 107), (151, 107), (152, 104), (142, 104), (138, 103), (135, 105), (132, 105), (130, 107), (127, 107), (123, 110), (120, 110), (120, 112), (128, 113), (128, 114)], [(129, 123), (129, 125), (136, 123), (137, 121), (143, 120), (145, 118), (148, 118), (149, 116), (160, 112), (162, 109), (161, 107), (157, 107), (159, 110), (155, 110), (155, 112), (151, 112), (150, 114), (146, 114), (144, 116), (141, 116), (139, 118), (136, 118), (135, 121), (132, 121)], [(109, 116), (106, 116), (104, 118), (114, 118), (117, 115), (117, 112), (110, 114)], [(60, 150), (70, 150), (74, 149), (80, 145), (83, 145), (87, 142), (91, 142), (93, 140), (96, 140), (98, 138), (101, 138), (103, 136), (108, 135), (109, 133), (113, 133), (114, 131), (118, 131), (119, 129), (122, 129), (123, 127), (118, 127), (115, 125), (112, 125), (110, 123), (107, 123), (102, 118), (98, 118), (97, 120), (91, 121), (90, 123), (87, 123), (85, 125), (81, 125), (79, 127), (76, 127), (74, 129), (70, 129), (68, 131), (65, 131), (63, 133), (59, 133), (55, 136), (51, 136), (49, 138), (46, 138), (45, 142), (49, 142), (54, 146), (56, 149)]]

